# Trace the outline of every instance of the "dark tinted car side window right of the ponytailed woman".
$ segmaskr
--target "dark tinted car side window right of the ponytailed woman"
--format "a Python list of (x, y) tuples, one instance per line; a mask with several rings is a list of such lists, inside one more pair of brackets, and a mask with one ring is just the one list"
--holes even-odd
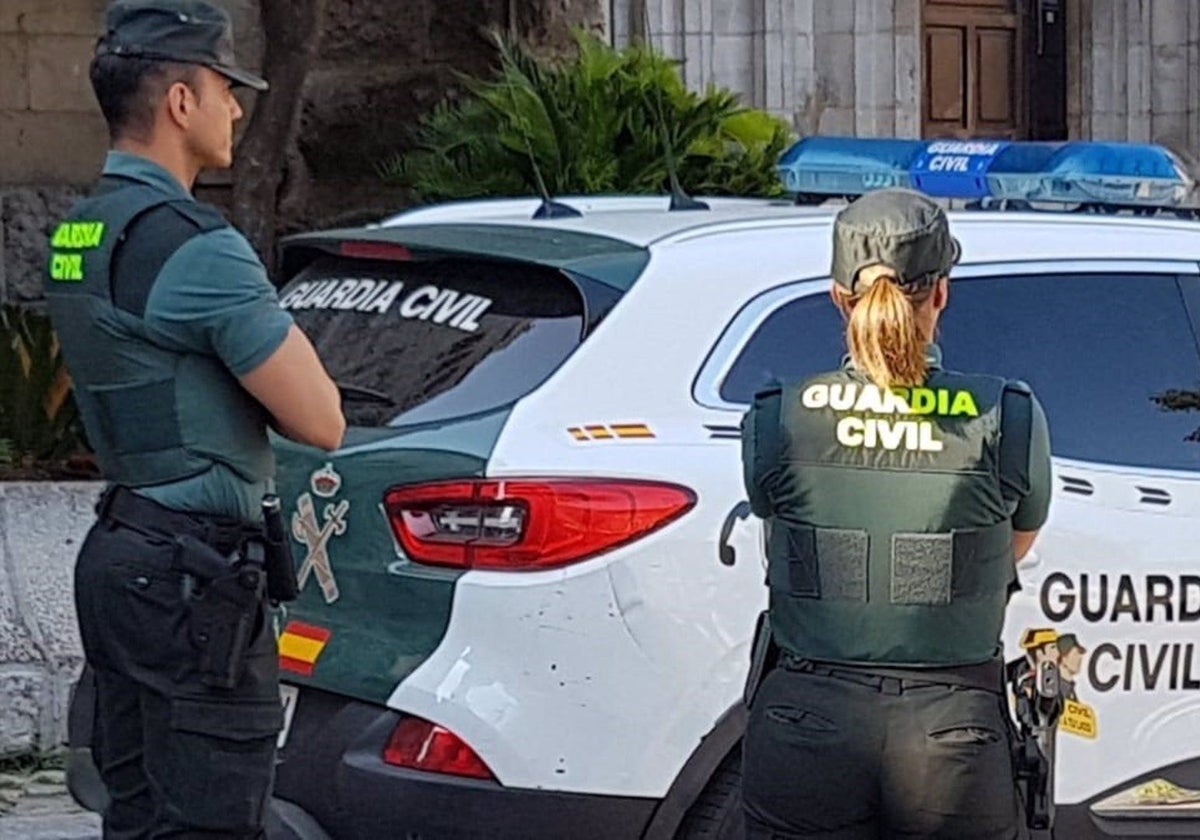
[[(1024, 379), (1056, 455), (1200, 468), (1200, 353), (1174, 275), (1028, 275), (959, 280), (942, 318), (949, 368)], [(1174, 410), (1172, 410), (1174, 407)], [(1180, 409), (1183, 410), (1180, 410)]]

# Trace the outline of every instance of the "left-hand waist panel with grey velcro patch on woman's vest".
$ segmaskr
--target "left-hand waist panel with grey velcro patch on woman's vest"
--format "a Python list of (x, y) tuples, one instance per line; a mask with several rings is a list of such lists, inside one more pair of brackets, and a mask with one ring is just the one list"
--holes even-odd
[(785, 526), (784, 564), (773, 563), (772, 586), (793, 598), (865, 601), (870, 540), (865, 530)]

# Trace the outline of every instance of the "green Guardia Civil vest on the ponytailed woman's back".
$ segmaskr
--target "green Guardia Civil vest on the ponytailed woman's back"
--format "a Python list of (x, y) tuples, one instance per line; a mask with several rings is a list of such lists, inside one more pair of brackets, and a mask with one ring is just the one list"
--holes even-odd
[(952, 666), (1000, 653), (1015, 580), (1000, 481), (1003, 379), (853, 371), (784, 388), (768, 523), (776, 642), (832, 662)]

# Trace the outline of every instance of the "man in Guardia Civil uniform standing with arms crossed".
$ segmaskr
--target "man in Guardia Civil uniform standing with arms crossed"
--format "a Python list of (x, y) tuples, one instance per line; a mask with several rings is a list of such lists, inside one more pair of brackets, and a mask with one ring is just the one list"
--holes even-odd
[(336, 449), (335, 384), (248, 242), (191, 194), (242, 112), (228, 14), (116, 0), (91, 64), (112, 150), (47, 300), (109, 482), (76, 566), (106, 838), (262, 836), (281, 726), (262, 566), (268, 424)]

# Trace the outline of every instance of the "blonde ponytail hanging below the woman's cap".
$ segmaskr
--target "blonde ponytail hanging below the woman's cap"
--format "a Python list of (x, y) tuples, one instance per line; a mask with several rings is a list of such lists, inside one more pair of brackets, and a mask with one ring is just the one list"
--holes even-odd
[(917, 326), (913, 296), (887, 276), (852, 300), (846, 346), (854, 366), (880, 388), (913, 388), (925, 382), (925, 338)]

